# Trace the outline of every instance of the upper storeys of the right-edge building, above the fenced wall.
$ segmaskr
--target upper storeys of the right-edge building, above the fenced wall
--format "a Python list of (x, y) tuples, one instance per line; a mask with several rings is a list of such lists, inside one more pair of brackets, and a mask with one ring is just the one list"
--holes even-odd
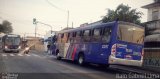
[(145, 46), (160, 47), (160, 0), (142, 6), (148, 9), (148, 22), (145, 23)]

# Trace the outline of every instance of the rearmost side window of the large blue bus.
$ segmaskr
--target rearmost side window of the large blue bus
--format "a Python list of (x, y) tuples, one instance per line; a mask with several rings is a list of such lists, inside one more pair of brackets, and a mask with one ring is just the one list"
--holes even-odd
[(102, 32), (102, 42), (109, 43), (110, 38), (111, 38), (111, 28), (106, 27), (103, 29), (103, 32)]

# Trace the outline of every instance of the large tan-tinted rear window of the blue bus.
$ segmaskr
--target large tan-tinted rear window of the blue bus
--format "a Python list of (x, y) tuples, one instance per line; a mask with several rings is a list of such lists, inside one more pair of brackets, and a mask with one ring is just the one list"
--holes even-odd
[(134, 25), (119, 24), (118, 39), (125, 42), (142, 44), (144, 39), (144, 29)]

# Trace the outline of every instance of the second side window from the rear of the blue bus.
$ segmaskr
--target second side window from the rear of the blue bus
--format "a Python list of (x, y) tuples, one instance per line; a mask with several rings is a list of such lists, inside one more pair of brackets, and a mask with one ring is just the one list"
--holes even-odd
[(94, 29), (92, 35), (92, 42), (99, 42), (101, 40), (101, 29)]

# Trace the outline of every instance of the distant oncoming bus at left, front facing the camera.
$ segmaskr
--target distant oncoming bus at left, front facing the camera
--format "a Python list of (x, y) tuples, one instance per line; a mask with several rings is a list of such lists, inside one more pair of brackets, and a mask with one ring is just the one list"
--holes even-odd
[(21, 37), (15, 34), (6, 34), (2, 38), (4, 52), (19, 52), (21, 49)]

